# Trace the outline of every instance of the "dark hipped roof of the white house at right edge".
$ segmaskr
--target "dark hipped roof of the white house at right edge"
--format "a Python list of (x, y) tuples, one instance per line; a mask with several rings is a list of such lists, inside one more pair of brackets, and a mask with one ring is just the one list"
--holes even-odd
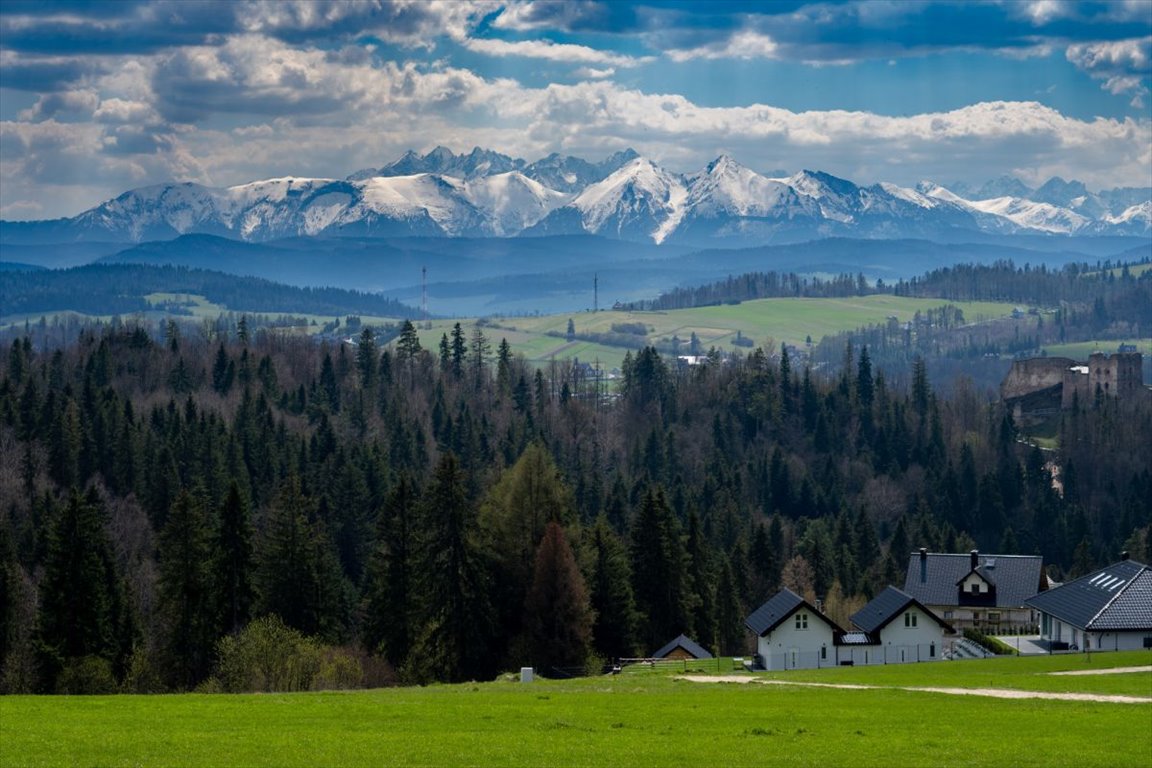
[(1085, 630), (1152, 631), (1152, 568), (1122, 560), (1041, 592), (1028, 604)]

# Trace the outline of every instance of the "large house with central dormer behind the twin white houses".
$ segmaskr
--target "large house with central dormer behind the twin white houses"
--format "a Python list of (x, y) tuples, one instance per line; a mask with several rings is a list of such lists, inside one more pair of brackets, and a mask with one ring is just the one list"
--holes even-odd
[(908, 558), (904, 592), (957, 630), (1034, 631), (1029, 598), (1048, 588), (1038, 555), (967, 555), (920, 549)]

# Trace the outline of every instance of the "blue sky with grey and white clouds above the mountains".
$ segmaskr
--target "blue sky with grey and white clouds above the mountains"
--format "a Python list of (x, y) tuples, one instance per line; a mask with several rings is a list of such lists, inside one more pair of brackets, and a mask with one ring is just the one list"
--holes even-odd
[(408, 150), (1152, 185), (1152, 0), (2, 0), (0, 218)]

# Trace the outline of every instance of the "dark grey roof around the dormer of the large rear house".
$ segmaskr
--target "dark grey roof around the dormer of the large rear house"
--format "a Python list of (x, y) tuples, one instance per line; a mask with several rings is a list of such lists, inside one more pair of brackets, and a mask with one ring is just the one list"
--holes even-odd
[[(904, 592), (925, 606), (957, 606), (957, 585), (972, 572), (971, 555), (930, 552), (908, 556)], [(1045, 586), (1044, 558), (1039, 555), (977, 555), (977, 573), (995, 585), (995, 607), (1018, 608)]]

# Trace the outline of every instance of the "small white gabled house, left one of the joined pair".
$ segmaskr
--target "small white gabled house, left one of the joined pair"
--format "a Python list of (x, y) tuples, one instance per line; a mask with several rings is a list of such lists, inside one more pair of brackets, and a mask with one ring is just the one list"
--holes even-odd
[(844, 633), (788, 588), (757, 608), (744, 625), (756, 634), (757, 666), (764, 669), (834, 667), (836, 638)]

